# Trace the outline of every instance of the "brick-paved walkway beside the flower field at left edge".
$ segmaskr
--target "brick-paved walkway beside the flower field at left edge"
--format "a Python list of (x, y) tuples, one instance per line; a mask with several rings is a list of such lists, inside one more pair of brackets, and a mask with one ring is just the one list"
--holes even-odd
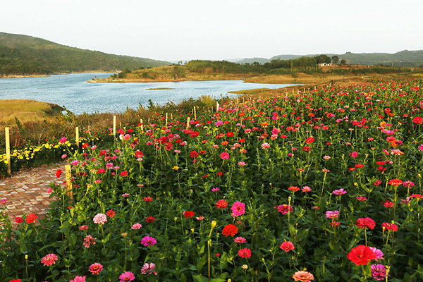
[[(15, 219), (24, 214), (36, 214), (43, 218), (45, 209), (49, 208), (51, 200), (47, 189), (50, 182), (61, 184), (66, 180), (65, 164), (41, 166), (17, 173), (10, 178), (0, 180), (0, 201), (7, 199), (6, 212), (13, 226)], [(63, 171), (60, 178), (56, 171)]]

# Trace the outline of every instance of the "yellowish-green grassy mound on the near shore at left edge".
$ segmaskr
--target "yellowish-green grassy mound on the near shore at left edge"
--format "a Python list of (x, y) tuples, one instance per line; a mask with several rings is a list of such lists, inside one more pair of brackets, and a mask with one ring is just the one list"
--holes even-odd
[(51, 120), (63, 108), (56, 104), (37, 102), (27, 99), (0, 100), (0, 127), (16, 125), (28, 121)]

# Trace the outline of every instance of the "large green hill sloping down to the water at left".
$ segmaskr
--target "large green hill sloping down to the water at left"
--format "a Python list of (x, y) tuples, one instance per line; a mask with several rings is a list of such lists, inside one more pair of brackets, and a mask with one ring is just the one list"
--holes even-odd
[(0, 32), (0, 76), (116, 71), (171, 63), (68, 47), (27, 35)]

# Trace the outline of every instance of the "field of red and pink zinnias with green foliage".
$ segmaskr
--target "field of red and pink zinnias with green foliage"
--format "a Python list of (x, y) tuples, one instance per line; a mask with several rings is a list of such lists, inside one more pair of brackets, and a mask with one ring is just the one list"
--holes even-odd
[(47, 218), (16, 229), (1, 215), (1, 281), (422, 281), (422, 87), (232, 101), (85, 142), (73, 197), (51, 185)]

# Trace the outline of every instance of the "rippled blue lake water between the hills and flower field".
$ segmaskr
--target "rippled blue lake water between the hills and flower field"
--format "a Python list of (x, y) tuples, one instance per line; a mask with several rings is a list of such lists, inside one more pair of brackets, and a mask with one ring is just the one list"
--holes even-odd
[[(87, 83), (94, 78), (107, 78), (110, 73), (79, 73), (52, 75), (45, 78), (1, 78), (1, 99), (32, 99), (66, 106), (75, 114), (83, 112), (121, 112), (126, 108), (137, 109), (139, 104), (147, 107), (148, 100), (154, 104), (202, 95), (220, 97), (234, 90), (254, 88), (281, 88), (290, 85), (243, 83), (242, 80), (147, 82), (147, 83)], [(175, 88), (174, 90), (146, 90), (148, 88)]]

